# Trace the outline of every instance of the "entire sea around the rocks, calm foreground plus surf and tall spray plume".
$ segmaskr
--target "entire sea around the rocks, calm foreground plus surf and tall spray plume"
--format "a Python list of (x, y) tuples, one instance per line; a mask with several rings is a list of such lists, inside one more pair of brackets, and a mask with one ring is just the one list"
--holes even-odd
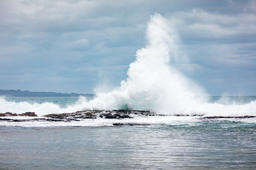
[(116, 89), (96, 89), (94, 98), (0, 98), (0, 113), (39, 117), (92, 109), (166, 115), (0, 121), (0, 169), (256, 169), (255, 96), (207, 97), (178, 69), (186, 60), (180, 43), (172, 24), (156, 14)]

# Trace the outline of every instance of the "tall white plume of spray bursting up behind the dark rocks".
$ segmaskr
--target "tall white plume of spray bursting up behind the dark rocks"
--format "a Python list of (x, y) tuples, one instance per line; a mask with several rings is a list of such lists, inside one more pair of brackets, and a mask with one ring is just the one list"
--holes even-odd
[(97, 98), (87, 103), (87, 108), (188, 113), (200, 103), (196, 96), (206, 95), (170, 64), (180, 62), (180, 40), (171, 23), (159, 14), (151, 16), (146, 40), (121, 86), (109, 93), (96, 93)]

